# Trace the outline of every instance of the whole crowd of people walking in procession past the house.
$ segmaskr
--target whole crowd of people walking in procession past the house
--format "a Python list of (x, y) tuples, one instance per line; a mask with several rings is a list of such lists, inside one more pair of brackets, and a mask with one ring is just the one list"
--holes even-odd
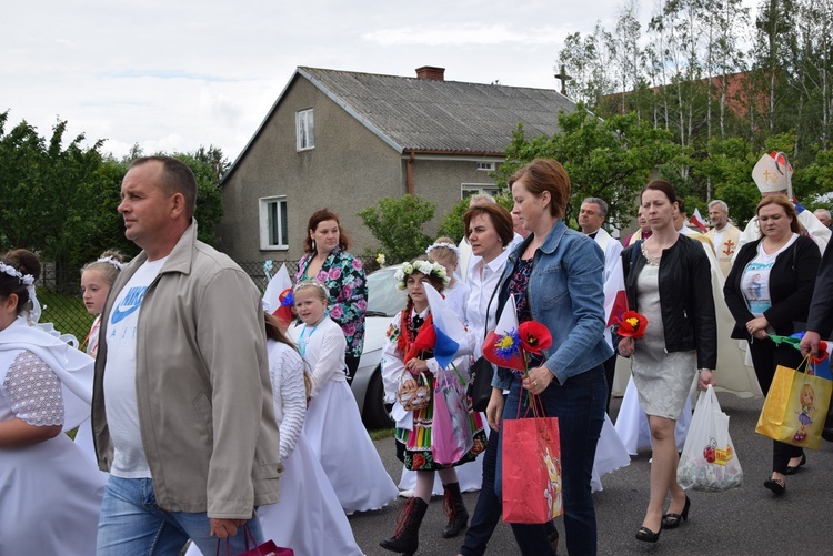
[[(830, 213), (789, 196), (780, 156), (762, 156), (772, 172), (753, 173), (762, 199), (745, 230), (714, 200), (711, 231), (692, 231), (674, 188), (653, 180), (640, 194), (639, 230), (621, 243), (603, 228), (600, 198), (582, 202), (580, 230), (570, 229), (570, 178), (536, 159), (510, 179), (511, 212), (476, 195), (459, 245), (438, 237), (404, 263), (394, 280), (407, 301), (387, 333), (382, 377), (400, 488), (410, 492), (381, 547), (414, 554), (432, 495), (442, 493), (439, 534), (464, 533), (462, 556), (485, 554), (502, 512), (502, 425), (535, 414), (533, 404), (559, 419), (569, 554), (596, 553), (593, 477), (610, 471), (596, 456), (631, 451), (619, 437), (628, 429), (644, 427), (652, 448), (635, 539), (656, 543), (680, 527), (692, 512), (676, 467), (693, 390), (766, 395), (779, 365), (819, 356), (833, 333)], [(0, 484), (11, 489), (0, 497), (0, 554), (181, 554), (189, 543), (188, 554), (220, 544), (238, 554), (249, 539), (270, 538), (299, 555), (361, 555), (347, 516), (401, 495), (349, 386), (368, 286), (338, 215), (322, 209), (309, 219), (294, 285), (282, 293), (290, 325), (233, 261), (197, 240), (195, 191), (175, 159), (131, 164), (118, 210), (141, 253), (124, 262), (108, 251), (82, 269), (83, 302), (97, 315), (83, 351), (32, 326), (38, 257), (16, 250), (0, 260)], [(639, 338), (610, 325), (605, 296), (616, 280), (628, 307), (646, 317)], [(545, 326), (552, 346), (531, 354), (522, 374), (492, 365), (485, 411), (464, 404), (458, 415), (466, 449), (435, 458), (448, 434), (438, 412), (449, 411), (434, 397), (439, 384), (471, 380), (508, 309), (518, 323)], [(464, 331), (453, 365), (434, 326), (448, 314)], [(796, 332), (799, 350), (770, 337)], [(741, 347), (749, 376), (725, 368), (725, 351)], [(623, 366), (630, 382), (614, 429), (606, 413)], [(71, 428), (76, 442), (62, 434)], [(763, 486), (783, 495), (806, 461), (794, 443), (773, 441)], [(479, 491), (474, 508), (466, 491)], [(521, 554), (555, 554), (553, 520), (511, 528)]]

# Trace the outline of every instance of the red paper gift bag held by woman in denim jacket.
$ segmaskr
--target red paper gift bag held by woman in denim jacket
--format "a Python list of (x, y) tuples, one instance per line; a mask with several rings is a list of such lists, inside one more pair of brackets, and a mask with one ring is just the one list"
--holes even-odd
[(501, 423), (503, 520), (546, 523), (563, 512), (558, 417)]

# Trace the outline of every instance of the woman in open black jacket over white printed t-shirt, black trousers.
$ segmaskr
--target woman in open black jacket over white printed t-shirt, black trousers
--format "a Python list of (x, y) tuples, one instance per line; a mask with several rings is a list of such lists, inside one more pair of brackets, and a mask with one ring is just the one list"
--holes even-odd
[[(779, 365), (796, 368), (802, 361), (797, 350), (775, 344), (769, 334), (789, 336), (804, 330), (821, 254), (813, 240), (800, 235), (795, 208), (784, 195), (765, 196), (755, 214), (761, 239), (737, 252), (723, 295), (735, 320), (732, 337), (749, 342), (766, 395)], [(804, 465), (806, 456), (801, 447), (773, 443), (772, 475), (764, 486), (783, 494), (785, 476)]]

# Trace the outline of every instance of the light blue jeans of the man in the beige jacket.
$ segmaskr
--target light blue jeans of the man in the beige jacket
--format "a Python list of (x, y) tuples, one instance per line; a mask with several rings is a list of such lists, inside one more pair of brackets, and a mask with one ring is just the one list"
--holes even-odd
[[(258, 544), (263, 543), (263, 532), (257, 516), (248, 522)], [(149, 478), (121, 478), (110, 476), (101, 503), (97, 556), (136, 556), (179, 554), (193, 539), (202, 554), (215, 554), (217, 537), (212, 537), (208, 515), (202, 513), (165, 512), (157, 505), (153, 483)], [(229, 554), (245, 550), (243, 527), (230, 538)], [(221, 542), (220, 554), (225, 554)]]

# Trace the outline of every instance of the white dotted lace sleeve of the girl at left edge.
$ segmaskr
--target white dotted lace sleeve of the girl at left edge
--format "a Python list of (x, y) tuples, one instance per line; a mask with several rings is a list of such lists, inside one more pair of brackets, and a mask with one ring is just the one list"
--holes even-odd
[(3, 381), (12, 413), (30, 425), (63, 425), (61, 381), (32, 352), (14, 358)]

